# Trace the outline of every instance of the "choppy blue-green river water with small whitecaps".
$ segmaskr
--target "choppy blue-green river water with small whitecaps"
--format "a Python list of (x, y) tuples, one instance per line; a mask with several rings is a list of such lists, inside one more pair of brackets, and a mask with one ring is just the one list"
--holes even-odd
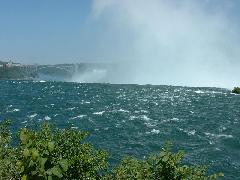
[(91, 133), (111, 162), (171, 140), (189, 164), (240, 177), (240, 96), (220, 88), (0, 81), (0, 120), (14, 129), (50, 121)]

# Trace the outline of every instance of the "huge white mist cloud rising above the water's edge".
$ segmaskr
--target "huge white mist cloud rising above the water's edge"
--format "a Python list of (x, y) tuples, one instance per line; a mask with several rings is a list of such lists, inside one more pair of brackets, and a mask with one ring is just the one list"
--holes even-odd
[(240, 83), (239, 26), (228, 16), (233, 5), (234, 1), (94, 0), (92, 17), (107, 22), (105, 28), (119, 35), (116, 44), (123, 33), (132, 36), (121, 49), (129, 57), (124, 82), (231, 87)]

